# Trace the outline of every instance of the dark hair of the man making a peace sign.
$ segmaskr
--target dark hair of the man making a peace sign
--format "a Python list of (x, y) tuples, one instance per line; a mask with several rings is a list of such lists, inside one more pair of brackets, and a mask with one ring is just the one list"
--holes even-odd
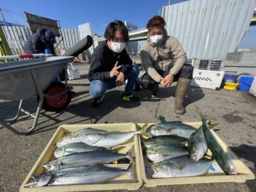
[(120, 20), (114, 20), (114, 22), (111, 22), (108, 24), (105, 33), (104, 33), (104, 37), (107, 40), (111, 40), (114, 38), (114, 34), (115, 31), (118, 30), (122, 33), (122, 35), (124, 36), (124, 41), (128, 42), (129, 41), (129, 34), (128, 34), (128, 30), (125, 27), (124, 22), (120, 21)]

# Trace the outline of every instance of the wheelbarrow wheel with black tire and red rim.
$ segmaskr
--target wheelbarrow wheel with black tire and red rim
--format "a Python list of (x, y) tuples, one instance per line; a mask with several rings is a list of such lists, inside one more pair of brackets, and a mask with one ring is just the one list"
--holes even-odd
[[(65, 92), (65, 84), (60, 82), (52, 82), (47, 89), (44, 91), (46, 95), (52, 96), (58, 93)], [(71, 100), (71, 92), (65, 92), (60, 97), (47, 98), (44, 97), (44, 102), (42, 108), (46, 111), (61, 111), (67, 108)], [(37, 101), (39, 102), (39, 96), (37, 96)]]

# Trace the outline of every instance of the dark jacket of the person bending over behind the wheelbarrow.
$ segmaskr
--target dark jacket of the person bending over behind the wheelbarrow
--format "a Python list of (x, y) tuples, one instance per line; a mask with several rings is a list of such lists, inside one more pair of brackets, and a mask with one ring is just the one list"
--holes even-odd
[(44, 32), (47, 29), (40, 28), (36, 30), (36, 33), (29, 36), (28, 40), (23, 46), (26, 54), (44, 53), (45, 49), (50, 49), (51, 54), (56, 55), (53, 44), (48, 44), (44, 40)]

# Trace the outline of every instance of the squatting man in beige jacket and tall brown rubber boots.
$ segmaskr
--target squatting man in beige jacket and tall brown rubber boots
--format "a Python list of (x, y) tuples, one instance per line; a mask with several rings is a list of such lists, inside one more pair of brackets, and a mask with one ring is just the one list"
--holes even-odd
[(157, 97), (158, 84), (167, 87), (177, 81), (174, 112), (182, 115), (186, 113), (182, 103), (193, 79), (193, 67), (185, 63), (186, 52), (177, 38), (167, 35), (164, 26), (163, 17), (158, 15), (148, 21), (148, 41), (140, 51), (146, 73), (141, 77), (140, 84), (152, 90), (152, 97)]

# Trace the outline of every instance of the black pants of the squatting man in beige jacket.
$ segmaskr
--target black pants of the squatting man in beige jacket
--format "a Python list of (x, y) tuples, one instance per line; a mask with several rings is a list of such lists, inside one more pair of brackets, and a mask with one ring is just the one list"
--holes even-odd
[[(179, 77), (186, 79), (193, 79), (193, 70), (194, 67), (188, 63), (185, 63), (181, 68), (180, 72), (174, 76), (173, 82), (178, 81)], [(158, 74), (162, 77), (167, 76), (170, 73), (170, 70), (157, 70)], [(146, 90), (152, 90), (159, 82), (154, 81), (147, 73), (145, 73), (140, 80), (141, 86)]]

